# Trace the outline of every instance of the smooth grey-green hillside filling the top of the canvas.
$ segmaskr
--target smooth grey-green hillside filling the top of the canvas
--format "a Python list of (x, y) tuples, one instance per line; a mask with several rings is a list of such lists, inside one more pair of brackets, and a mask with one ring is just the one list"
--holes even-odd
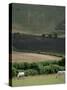
[[(12, 30), (26, 34), (57, 32), (56, 26), (65, 18), (65, 7), (12, 4)], [(59, 33), (63, 34), (64, 29)]]

